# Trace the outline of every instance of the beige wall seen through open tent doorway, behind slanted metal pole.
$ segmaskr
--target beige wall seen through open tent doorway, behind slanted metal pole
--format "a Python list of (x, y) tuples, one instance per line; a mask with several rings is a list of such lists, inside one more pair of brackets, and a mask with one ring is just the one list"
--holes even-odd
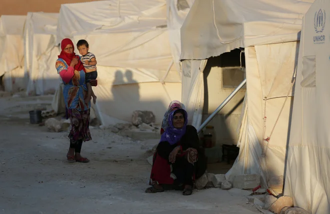
[[(234, 90), (234, 88), (223, 87), (222, 70), (228, 67), (237, 67), (239, 70), (239, 54), (239, 50), (234, 50), (208, 60), (204, 70), (203, 121)], [(241, 60), (242, 70), (244, 70), (244, 54), (241, 55)], [(244, 79), (244, 76), (234, 75), (232, 78), (235, 78), (234, 82), (238, 85)], [(217, 146), (222, 144), (237, 144), (238, 133), (236, 129), (240, 119), (245, 92), (246, 87), (241, 89), (208, 124), (214, 126)]]

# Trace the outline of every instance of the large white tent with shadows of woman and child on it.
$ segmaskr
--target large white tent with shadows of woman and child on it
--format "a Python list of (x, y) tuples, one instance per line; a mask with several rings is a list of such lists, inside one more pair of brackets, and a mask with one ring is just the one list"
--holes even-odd
[[(130, 121), (134, 110), (152, 110), (161, 122), (168, 103), (180, 99), (181, 79), (173, 66), (166, 0), (62, 5), (57, 43), (63, 38), (73, 43), (87, 40), (96, 56), (98, 86), (93, 90), (103, 125), (112, 123), (109, 117)], [(53, 108), (60, 111), (56, 102)]]

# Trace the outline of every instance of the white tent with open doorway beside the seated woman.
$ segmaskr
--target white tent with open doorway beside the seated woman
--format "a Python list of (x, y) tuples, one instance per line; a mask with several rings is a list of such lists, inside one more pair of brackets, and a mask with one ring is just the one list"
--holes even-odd
[[(239, 155), (226, 177), (261, 173), (262, 185), (282, 190), (292, 76), (301, 19), (313, 0), (195, 0), (181, 28), (182, 102), (199, 127), (203, 70), (209, 57), (245, 48), (246, 96)], [(218, 104), (222, 100), (218, 101)], [(270, 140), (265, 141), (270, 137)]]

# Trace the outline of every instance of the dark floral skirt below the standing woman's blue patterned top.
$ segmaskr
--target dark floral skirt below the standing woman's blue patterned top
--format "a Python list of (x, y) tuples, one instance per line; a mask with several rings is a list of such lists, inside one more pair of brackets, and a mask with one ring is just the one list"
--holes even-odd
[(71, 141), (91, 140), (89, 132), (90, 110), (78, 111), (77, 109), (67, 109), (67, 114), (71, 123), (71, 130), (68, 135)]

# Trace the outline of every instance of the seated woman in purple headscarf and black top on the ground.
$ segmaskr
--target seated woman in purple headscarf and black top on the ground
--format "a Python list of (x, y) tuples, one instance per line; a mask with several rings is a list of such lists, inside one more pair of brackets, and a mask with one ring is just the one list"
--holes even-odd
[(168, 115), (168, 127), (161, 135), (153, 155), (146, 193), (164, 189), (183, 189), (183, 195), (192, 193), (194, 179), (206, 170), (206, 158), (199, 150), (199, 138), (193, 126), (187, 125), (187, 113), (177, 109)]

